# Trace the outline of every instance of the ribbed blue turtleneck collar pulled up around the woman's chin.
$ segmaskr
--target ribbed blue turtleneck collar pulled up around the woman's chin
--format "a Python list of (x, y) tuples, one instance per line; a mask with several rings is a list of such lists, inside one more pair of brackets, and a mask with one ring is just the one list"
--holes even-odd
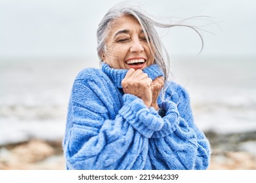
[[(102, 71), (108, 75), (110, 80), (112, 80), (117, 88), (122, 88), (121, 81), (123, 78), (125, 78), (125, 75), (128, 72), (127, 69), (113, 69), (110, 67), (110, 65), (102, 63)], [(159, 76), (163, 76), (163, 71), (161, 71), (157, 64), (152, 64), (146, 67), (143, 72), (146, 73), (152, 80)]]

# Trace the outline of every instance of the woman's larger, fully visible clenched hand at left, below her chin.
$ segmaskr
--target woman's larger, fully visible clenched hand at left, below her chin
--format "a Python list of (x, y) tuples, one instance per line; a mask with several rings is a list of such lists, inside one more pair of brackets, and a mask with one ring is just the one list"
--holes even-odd
[(147, 107), (152, 105), (152, 79), (142, 70), (129, 69), (121, 85), (124, 93), (139, 97)]

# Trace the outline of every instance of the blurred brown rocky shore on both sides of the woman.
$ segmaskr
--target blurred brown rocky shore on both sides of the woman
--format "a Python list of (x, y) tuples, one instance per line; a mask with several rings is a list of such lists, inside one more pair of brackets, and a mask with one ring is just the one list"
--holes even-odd
[[(256, 133), (206, 132), (212, 154), (209, 170), (255, 170)], [(246, 143), (248, 143), (246, 145)], [(252, 147), (248, 150), (248, 147)], [(254, 152), (254, 151), (255, 152)], [(0, 146), (1, 170), (64, 170), (62, 141), (30, 141)]]

